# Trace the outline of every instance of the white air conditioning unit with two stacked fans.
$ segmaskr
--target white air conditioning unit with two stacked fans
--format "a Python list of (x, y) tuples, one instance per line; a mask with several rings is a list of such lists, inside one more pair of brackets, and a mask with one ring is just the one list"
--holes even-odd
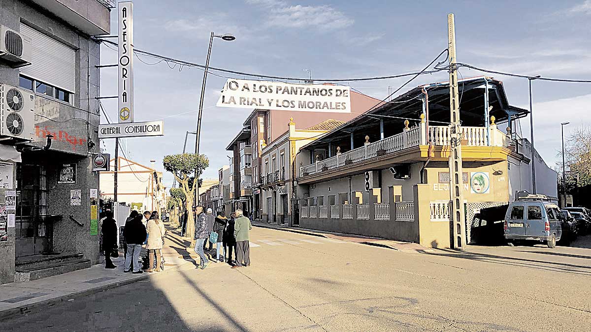
[(35, 95), (8, 84), (0, 84), (0, 136), (33, 141), (35, 132)]

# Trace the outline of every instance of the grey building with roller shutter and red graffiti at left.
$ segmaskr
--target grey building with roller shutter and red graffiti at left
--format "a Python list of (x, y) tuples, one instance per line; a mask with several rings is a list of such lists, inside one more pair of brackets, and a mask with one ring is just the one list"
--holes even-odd
[(99, 261), (99, 175), (91, 160), (100, 152), (100, 48), (92, 36), (109, 33), (111, 5), (0, 2), (2, 43), (15, 43), (12, 55), (0, 55), (2, 123), (10, 124), (0, 148), (0, 283), (67, 271), (45, 269), (56, 257), (69, 261), (69, 271)]

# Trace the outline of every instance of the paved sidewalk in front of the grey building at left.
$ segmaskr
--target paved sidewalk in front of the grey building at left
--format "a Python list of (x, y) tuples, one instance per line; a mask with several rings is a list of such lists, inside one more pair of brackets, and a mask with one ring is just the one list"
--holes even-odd
[[(167, 230), (163, 248), (163, 272), (123, 273), (123, 249), (119, 249), (119, 258), (113, 258), (116, 269), (105, 269), (105, 264), (102, 263), (48, 278), (0, 285), (0, 320), (19, 313), (26, 315), (32, 310), (43, 310), (61, 301), (74, 301), (89, 294), (152, 278), (174, 271), (181, 265), (195, 264), (195, 253), (191, 255), (192, 250), (186, 250), (189, 242), (184, 241), (176, 230), (169, 227)], [(102, 256), (100, 259), (102, 262), (105, 261)]]

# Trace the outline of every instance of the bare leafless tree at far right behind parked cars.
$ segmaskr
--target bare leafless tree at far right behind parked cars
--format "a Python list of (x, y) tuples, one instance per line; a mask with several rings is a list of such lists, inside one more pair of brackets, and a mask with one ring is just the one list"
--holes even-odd
[(564, 158), (567, 168), (567, 185), (583, 187), (591, 184), (591, 128), (580, 126), (566, 139)]

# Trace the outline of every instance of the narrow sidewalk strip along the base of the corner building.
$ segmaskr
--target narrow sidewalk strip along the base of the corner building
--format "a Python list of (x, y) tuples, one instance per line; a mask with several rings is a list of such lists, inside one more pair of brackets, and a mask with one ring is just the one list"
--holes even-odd
[(261, 222), (253, 222), (252, 226), (264, 227), (264, 228), (276, 229), (276, 230), (283, 230), (285, 232), (300, 233), (300, 234), (311, 235), (311, 236), (327, 237), (329, 239), (339, 239), (339, 240), (343, 240), (343, 241), (362, 243), (364, 245), (384, 247), (384, 248), (399, 250), (401, 252), (407, 252), (407, 253), (434, 252), (433, 249), (426, 248), (424, 246), (419, 245), (418, 243), (402, 242), (402, 241), (397, 241), (397, 240), (388, 240), (388, 239), (382, 239), (381, 237), (371, 237), (371, 236), (352, 235), (352, 234), (345, 234), (345, 233), (325, 232), (323, 230), (306, 229), (306, 228), (301, 228), (301, 227), (281, 226), (281, 225), (267, 224), (267, 223), (261, 223)]

